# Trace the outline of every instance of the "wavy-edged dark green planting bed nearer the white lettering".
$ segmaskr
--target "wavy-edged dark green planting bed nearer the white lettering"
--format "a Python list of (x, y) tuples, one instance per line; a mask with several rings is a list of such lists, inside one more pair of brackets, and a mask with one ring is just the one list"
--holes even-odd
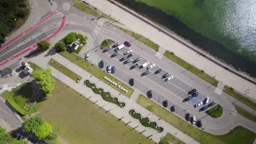
[(118, 101), (118, 98), (112, 98), (112, 97), (110, 96), (110, 93), (109, 93), (109, 92), (104, 92), (102, 88), (96, 88), (95, 84), (94, 84), (94, 83), (90, 83), (89, 80), (85, 80), (85, 81), (84, 81), (84, 84), (85, 84), (87, 87), (91, 88), (94, 93), (100, 94), (101, 97), (102, 97), (104, 100), (106, 100), (106, 101), (108, 101), (108, 102), (110, 102), (110, 103), (116, 104), (116, 105), (118, 105), (118, 106), (120, 106), (120, 107), (124, 107), (124, 106), (125, 106), (125, 103), (120, 103), (120, 102)]

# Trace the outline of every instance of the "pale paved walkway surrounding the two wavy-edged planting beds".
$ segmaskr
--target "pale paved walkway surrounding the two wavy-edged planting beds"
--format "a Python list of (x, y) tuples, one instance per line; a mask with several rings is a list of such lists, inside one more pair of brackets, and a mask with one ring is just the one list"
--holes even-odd
[[(47, 53), (47, 52), (45, 52)], [(96, 77), (91, 76), (87, 71), (81, 69), (74, 63), (70, 62), (68, 59), (60, 56), (59, 54), (53, 54), (52, 56), (45, 57), (45, 53), (42, 53), (41, 55), (37, 56), (36, 58), (28, 58), (27, 61), (34, 62), (38, 64), (39, 67), (46, 68), (50, 67), (53, 69), (53, 76), (57, 79), (64, 82), (69, 87), (73, 88), (75, 91), (79, 92), (80, 94), (83, 94), (86, 98), (90, 99), (97, 105), (101, 106), (103, 109), (108, 111), (109, 113), (112, 113), (112, 115), (120, 118), (125, 123), (128, 123), (131, 127), (135, 128), (139, 132), (142, 132), (142, 134), (149, 137), (149, 139), (152, 139), (155, 142), (159, 142), (160, 137), (165, 136), (168, 133), (175, 136), (184, 141), (185, 143), (198, 143), (197, 141), (193, 140), (188, 135), (185, 135), (182, 131), (174, 128), (169, 123), (163, 121), (159, 117), (153, 115), (153, 113), (149, 112), (148, 110), (144, 109), (142, 106), (138, 105), (137, 103), (134, 103), (134, 99), (131, 100), (125, 95), (120, 94), (115, 89), (108, 86), (106, 83), (98, 80)], [(55, 59), (55, 61), (61, 63), (62, 65), (65, 65), (65, 67), (68, 67), (69, 69), (72, 69), (77, 73), (78, 75), (84, 77), (81, 82), (75, 83), (73, 80), (69, 79), (66, 75), (60, 73), (60, 71), (57, 71), (53, 67), (49, 66), (47, 63), (49, 62), (50, 58)], [(119, 101), (124, 102), (126, 106), (124, 108), (120, 108), (115, 104), (108, 103), (107, 101), (103, 100), (100, 95), (94, 94), (90, 88), (84, 86), (83, 81), (89, 80), (92, 83), (95, 83), (97, 87), (101, 87), (106, 89), (105, 91), (108, 91), (111, 93), (113, 97), (117, 97)], [(138, 94), (138, 93), (137, 93)], [(132, 97), (133, 98), (133, 97)], [(143, 127), (141, 123), (139, 123), (138, 119), (134, 119), (129, 115), (129, 110), (134, 109), (136, 112), (141, 113), (143, 117), (148, 117), (151, 122), (156, 122), (158, 127), (164, 128), (163, 133), (158, 133), (156, 130), (148, 127)]]

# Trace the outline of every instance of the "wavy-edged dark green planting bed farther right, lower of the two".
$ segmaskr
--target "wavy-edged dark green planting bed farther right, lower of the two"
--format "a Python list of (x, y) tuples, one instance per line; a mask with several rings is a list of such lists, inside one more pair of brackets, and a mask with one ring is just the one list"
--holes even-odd
[(150, 128), (153, 128), (157, 131), (159, 131), (159, 133), (162, 133), (162, 131), (164, 131), (164, 129), (162, 127), (158, 127), (158, 125), (156, 125), (155, 122), (149, 122), (149, 119), (146, 117), (146, 118), (143, 118), (141, 116), (141, 114), (139, 113), (136, 113), (135, 110), (130, 110), (129, 111), (129, 114), (133, 117), (133, 118), (136, 118), (136, 119), (139, 119), (139, 122), (144, 126), (144, 127), (150, 127)]

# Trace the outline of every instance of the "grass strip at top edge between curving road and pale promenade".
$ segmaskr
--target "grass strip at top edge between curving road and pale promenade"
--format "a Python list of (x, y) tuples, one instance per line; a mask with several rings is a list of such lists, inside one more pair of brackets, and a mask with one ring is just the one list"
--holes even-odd
[(92, 8), (88, 7), (88, 5), (84, 4), (82, 1), (79, 1), (79, 0), (72, 0), (72, 1), (75, 5), (75, 8), (79, 9), (80, 11), (83, 11), (86, 14), (92, 15), (95, 18), (101, 16), (101, 17), (105, 17), (106, 19), (115, 21), (115, 19), (113, 19), (112, 17), (102, 13), (100, 10), (92, 9)]

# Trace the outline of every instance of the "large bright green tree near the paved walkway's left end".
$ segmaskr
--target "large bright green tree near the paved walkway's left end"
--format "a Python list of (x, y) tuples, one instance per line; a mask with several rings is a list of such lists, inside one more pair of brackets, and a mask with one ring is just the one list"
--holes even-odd
[(51, 92), (54, 90), (55, 79), (51, 76), (51, 69), (40, 69), (33, 71), (32, 75), (36, 78), (36, 83), (40, 85), (40, 88), (47, 96), (51, 96)]

